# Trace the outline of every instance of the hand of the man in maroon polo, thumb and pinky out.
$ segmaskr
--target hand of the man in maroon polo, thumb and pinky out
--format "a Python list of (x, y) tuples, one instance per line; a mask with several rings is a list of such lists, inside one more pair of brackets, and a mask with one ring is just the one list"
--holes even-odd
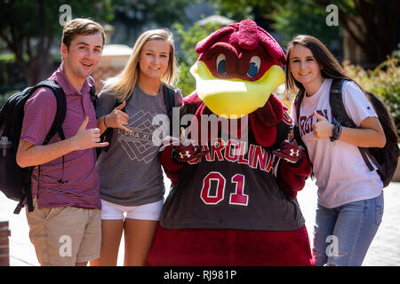
[(92, 147), (104, 147), (108, 146), (108, 142), (100, 143), (100, 129), (93, 128), (86, 130), (89, 117), (84, 118), (81, 126), (76, 132), (76, 135), (72, 138), (76, 150), (84, 150)]

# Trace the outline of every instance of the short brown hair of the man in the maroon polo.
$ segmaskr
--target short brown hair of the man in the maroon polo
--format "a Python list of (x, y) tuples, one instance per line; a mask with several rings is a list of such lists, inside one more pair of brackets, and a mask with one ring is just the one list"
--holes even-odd
[(106, 35), (104, 34), (103, 27), (93, 20), (77, 18), (68, 21), (68, 23), (64, 26), (64, 29), (62, 30), (61, 43), (64, 43), (67, 45), (67, 48), (69, 48), (69, 45), (74, 40), (75, 36), (90, 36), (97, 33), (101, 34), (104, 45), (106, 42)]

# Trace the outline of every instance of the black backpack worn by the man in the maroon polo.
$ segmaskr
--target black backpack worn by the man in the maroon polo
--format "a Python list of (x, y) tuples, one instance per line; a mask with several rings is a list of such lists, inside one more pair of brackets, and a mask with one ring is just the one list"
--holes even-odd
[[(92, 79), (89, 79), (92, 82)], [(24, 119), (24, 106), (27, 100), (38, 88), (48, 88), (52, 90), (57, 99), (57, 111), (52, 122), (52, 127), (44, 139), (44, 144), (49, 143), (50, 139), (59, 133), (62, 140), (65, 139), (64, 131), (62, 130), (62, 122), (64, 122), (67, 113), (67, 100), (60, 87), (60, 84), (53, 80), (44, 80), (33, 87), (28, 87), (23, 91), (13, 94), (6, 100), (4, 106), (0, 110), (0, 148), (3, 151), (0, 153), (0, 190), (9, 199), (19, 201), (14, 214), (19, 214), (20, 209), (24, 206), (24, 201), (27, 201), (28, 211), (33, 211), (33, 201), (31, 193), (31, 175), (35, 167), (20, 168), (16, 162), (16, 154), (20, 144), (20, 131)], [(94, 87), (91, 87), (91, 99), (95, 106), (97, 96)], [(7, 146), (7, 140), (8, 146)], [(64, 162), (64, 157), (63, 157)], [(38, 166), (40, 172), (40, 166)], [(61, 178), (62, 179), (62, 178)]]

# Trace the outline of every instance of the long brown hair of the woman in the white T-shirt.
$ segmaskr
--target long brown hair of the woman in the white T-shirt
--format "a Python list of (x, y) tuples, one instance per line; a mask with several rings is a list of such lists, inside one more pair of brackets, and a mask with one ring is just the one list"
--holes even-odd
[(325, 47), (324, 43), (321, 43), (314, 36), (301, 35), (295, 36), (286, 47), (286, 91), (295, 92), (296, 87), (300, 91), (305, 91), (304, 86), (299, 81), (294, 79), (291, 72), (290, 56), (291, 51), (296, 44), (301, 44), (302, 46), (307, 47), (313, 53), (316, 62), (319, 64), (319, 66), (322, 67), (321, 75), (324, 78), (345, 79), (354, 82), (351, 78), (348, 77), (348, 75), (346, 75), (346, 71), (344, 70), (344, 68), (340, 66), (339, 62), (333, 57), (331, 51), (329, 51)]

